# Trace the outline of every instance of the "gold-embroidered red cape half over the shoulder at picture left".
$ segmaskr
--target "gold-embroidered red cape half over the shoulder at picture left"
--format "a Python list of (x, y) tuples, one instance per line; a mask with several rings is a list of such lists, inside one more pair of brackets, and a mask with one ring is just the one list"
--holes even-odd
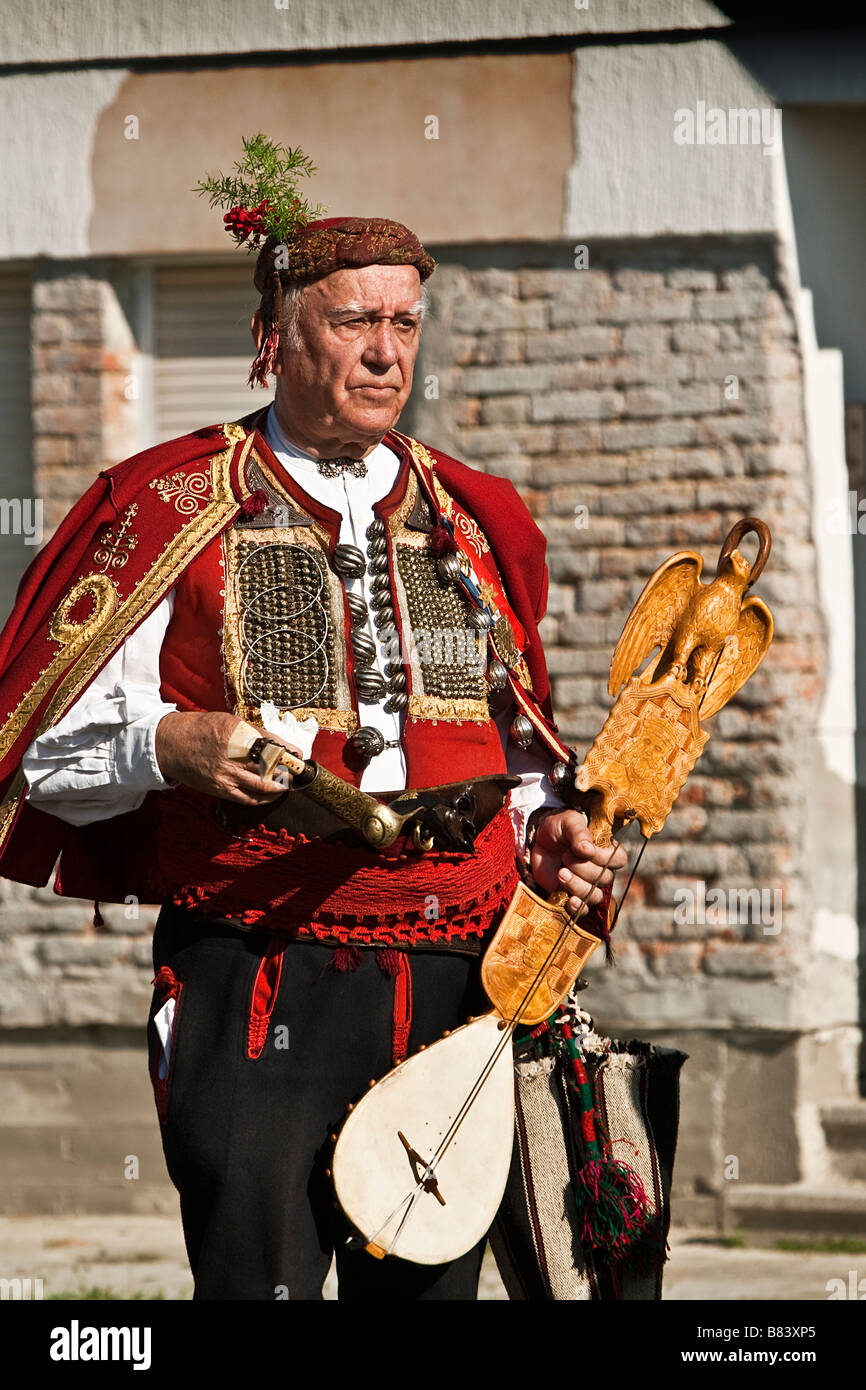
[[(63, 717), (124, 637), (177, 582), (183, 564), (231, 525), (249, 498), (235, 461), (245, 431), (227, 431), (199, 430), (104, 468), (21, 580), (0, 634), (0, 858), (6, 877), (44, 883), (70, 835), (68, 826), (22, 799), (24, 751)], [(220, 456), (214, 474), (207, 466)], [(211, 491), (217, 477), (218, 495)], [(175, 506), (179, 493), (193, 506)], [(111, 567), (125, 528), (128, 548), (121, 564)]]

